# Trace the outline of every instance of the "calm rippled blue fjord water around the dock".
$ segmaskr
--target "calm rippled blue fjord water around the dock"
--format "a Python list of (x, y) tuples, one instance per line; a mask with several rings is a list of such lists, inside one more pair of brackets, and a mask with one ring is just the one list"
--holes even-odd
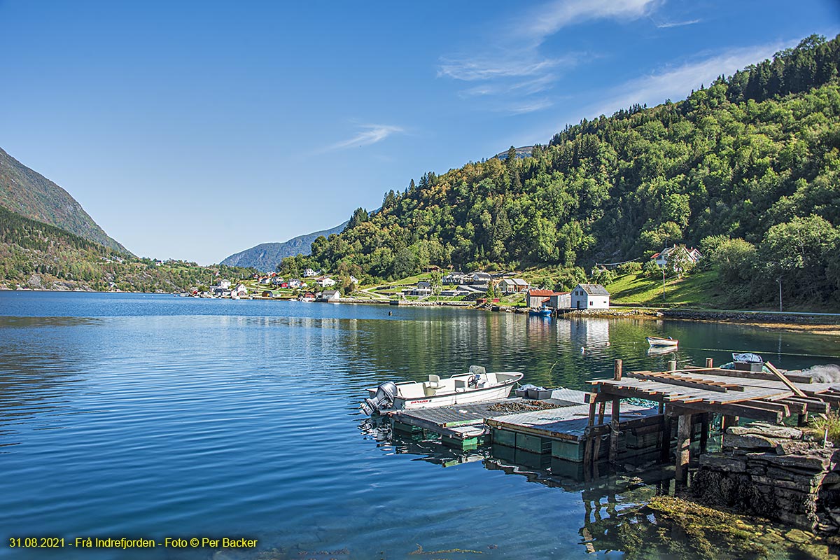
[[(648, 357), (648, 334), (680, 351)], [(480, 364), (583, 389), (614, 358), (654, 369), (732, 350), (840, 362), (834, 338), (737, 325), (0, 292), (0, 557), (214, 552), (22, 551), (13, 536), (259, 539), (242, 557), (584, 557), (580, 490), (377, 442), (364, 388)]]

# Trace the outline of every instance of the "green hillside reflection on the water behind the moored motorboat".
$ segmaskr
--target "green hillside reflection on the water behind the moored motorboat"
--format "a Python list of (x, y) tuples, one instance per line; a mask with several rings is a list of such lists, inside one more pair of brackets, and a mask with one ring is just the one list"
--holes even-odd
[[(496, 371), (517, 370), (524, 383), (585, 390), (588, 379), (612, 375), (613, 361), (624, 369), (664, 370), (669, 360), (680, 367), (731, 361), (732, 350), (765, 353), (786, 368), (822, 364), (837, 353), (827, 337), (734, 324), (633, 318), (529, 317), (512, 313), (429, 310), (394, 321), (360, 319), (339, 344), (352, 350), (354, 367), (375, 372), (377, 380), (426, 379), (454, 374), (471, 364)], [(437, 311), (437, 312), (436, 312)], [(383, 317), (387, 311), (382, 310)], [(344, 323), (344, 322), (343, 322)], [(648, 353), (648, 336), (672, 336), (680, 347)]]

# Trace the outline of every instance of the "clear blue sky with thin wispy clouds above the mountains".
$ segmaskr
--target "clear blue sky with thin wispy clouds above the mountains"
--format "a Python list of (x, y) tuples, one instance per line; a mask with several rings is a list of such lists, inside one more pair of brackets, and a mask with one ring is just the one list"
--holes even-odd
[(135, 254), (211, 264), (814, 33), (840, 3), (0, 0), (0, 147)]

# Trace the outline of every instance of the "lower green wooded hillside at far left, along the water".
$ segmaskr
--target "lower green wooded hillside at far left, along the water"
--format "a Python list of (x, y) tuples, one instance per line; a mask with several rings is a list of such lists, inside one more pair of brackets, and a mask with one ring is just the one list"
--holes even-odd
[(0, 207), (0, 288), (172, 292), (254, 272), (138, 259)]

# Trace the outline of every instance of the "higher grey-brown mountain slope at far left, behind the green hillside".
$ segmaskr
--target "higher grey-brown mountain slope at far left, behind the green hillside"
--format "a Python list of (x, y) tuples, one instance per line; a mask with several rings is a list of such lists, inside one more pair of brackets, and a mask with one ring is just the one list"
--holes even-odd
[(76, 199), (44, 175), (29, 169), (0, 149), (0, 206), (12, 212), (75, 233), (81, 238), (129, 251), (102, 231)]

